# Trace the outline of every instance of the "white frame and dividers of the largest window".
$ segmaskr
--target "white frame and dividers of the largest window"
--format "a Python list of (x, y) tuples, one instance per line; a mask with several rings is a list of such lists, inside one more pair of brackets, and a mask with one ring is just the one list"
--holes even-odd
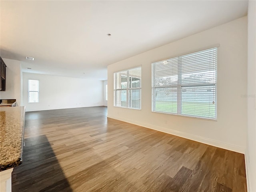
[[(182, 62), (179, 61), (179, 58), (180, 57), (183, 57), (183, 56), (186, 56), (186, 55), (189, 55), (189, 54), (194, 54), (194, 53), (197, 53), (197, 52), (203, 52), (203, 51), (207, 51), (207, 50), (210, 50), (210, 49), (216, 49), (216, 64), (215, 64), (215, 82), (214, 83), (202, 83), (202, 84), (194, 84), (193, 82), (191, 83), (187, 83), (185, 86), (184, 84), (182, 84), (180, 82), (180, 80), (182, 79), (182, 71), (181, 71), (181, 66), (182, 66)], [(156, 99), (154, 99), (154, 91), (156, 88), (160, 88), (157, 87), (157, 86), (153, 86), (153, 81), (151, 82), (151, 112), (154, 112), (154, 113), (160, 113), (160, 114), (169, 114), (169, 115), (175, 115), (175, 116), (184, 116), (184, 117), (188, 117), (188, 118), (197, 118), (197, 119), (203, 119), (203, 120), (212, 120), (212, 121), (217, 121), (217, 63), (218, 63), (218, 47), (213, 47), (213, 48), (208, 48), (208, 49), (204, 49), (204, 50), (199, 50), (199, 51), (196, 51), (196, 52), (192, 52), (192, 53), (189, 53), (189, 54), (183, 54), (183, 55), (180, 55), (180, 56), (177, 56), (177, 57), (172, 57), (172, 58), (168, 58), (166, 60), (162, 60), (162, 61), (158, 61), (158, 62), (165, 62), (167, 60), (172, 60), (174, 58), (178, 58), (178, 72), (177, 72), (177, 76), (178, 76), (178, 82), (176, 84), (176, 86), (174, 85), (169, 85), (169, 86), (166, 86), (164, 88), (177, 88), (177, 113), (172, 113), (172, 112), (160, 112), (160, 111), (155, 111), (156, 109)], [(158, 62), (153, 62), (152, 65), (151, 65), (151, 69), (153, 69), (153, 64), (156, 64)], [(151, 72), (151, 79), (153, 80), (153, 71)], [(182, 114), (182, 87), (199, 87), (199, 86), (214, 86), (214, 91), (215, 91), (215, 94), (214, 94), (214, 100), (215, 100), (215, 118), (211, 118), (211, 117), (204, 117), (204, 116), (198, 116), (198, 115), (188, 115), (188, 114)]]

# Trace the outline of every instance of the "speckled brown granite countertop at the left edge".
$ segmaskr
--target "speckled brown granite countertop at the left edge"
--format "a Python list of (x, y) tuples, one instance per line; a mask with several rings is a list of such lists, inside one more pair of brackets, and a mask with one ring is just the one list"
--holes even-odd
[(25, 107), (0, 108), (0, 171), (22, 164)]

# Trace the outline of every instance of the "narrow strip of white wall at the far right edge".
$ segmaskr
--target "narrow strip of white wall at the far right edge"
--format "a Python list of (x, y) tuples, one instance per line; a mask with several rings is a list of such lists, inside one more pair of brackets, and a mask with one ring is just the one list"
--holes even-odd
[(256, 192), (256, 1), (248, 4), (248, 130), (246, 174), (248, 192)]

